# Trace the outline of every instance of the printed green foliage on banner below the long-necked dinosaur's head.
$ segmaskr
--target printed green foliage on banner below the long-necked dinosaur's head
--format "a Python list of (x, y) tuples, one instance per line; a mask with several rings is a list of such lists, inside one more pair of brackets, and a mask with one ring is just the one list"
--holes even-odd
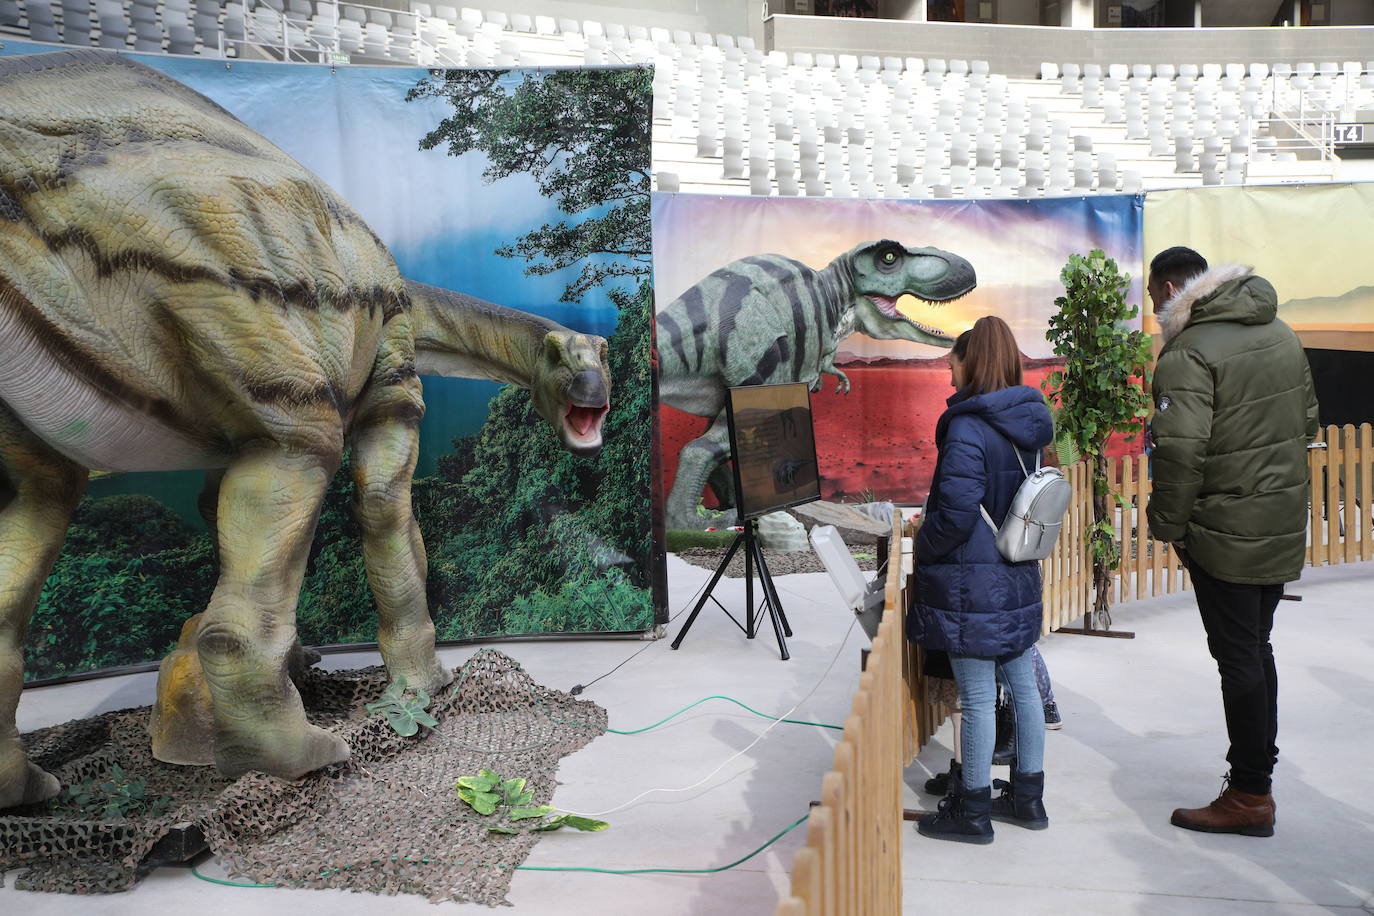
[(570, 455), (529, 394), (506, 389), (440, 478), (416, 482), (430, 604), (453, 608), (436, 614), (441, 639), (653, 625), (650, 288), (610, 295), (620, 317), (600, 455)]

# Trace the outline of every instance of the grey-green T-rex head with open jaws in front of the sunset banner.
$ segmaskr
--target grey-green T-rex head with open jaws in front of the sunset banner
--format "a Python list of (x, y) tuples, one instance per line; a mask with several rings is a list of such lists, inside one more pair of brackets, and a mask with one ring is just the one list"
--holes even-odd
[(934, 324), (897, 310), (897, 299), (914, 295), (932, 308), (952, 302), (978, 284), (973, 265), (940, 249), (908, 249), (899, 242), (866, 242), (849, 253), (855, 288), (855, 330), (883, 341), (914, 341), (954, 346)]

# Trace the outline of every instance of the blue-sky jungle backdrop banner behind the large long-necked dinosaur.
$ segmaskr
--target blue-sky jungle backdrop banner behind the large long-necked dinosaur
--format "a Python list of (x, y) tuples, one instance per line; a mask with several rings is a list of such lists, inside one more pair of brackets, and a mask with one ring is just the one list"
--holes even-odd
[[(3, 54), (45, 49), (7, 41)], [(651, 73), (133, 56), (320, 176), (405, 277), (609, 339), (611, 411), (591, 459), (561, 448), (522, 389), (423, 379), (412, 496), (440, 639), (633, 632), (666, 619), (644, 448)], [(199, 472), (93, 474), (29, 630), (26, 678), (153, 662), (176, 644), (216, 580), (201, 486)], [(297, 614), (305, 644), (376, 634), (352, 490), (345, 464)]]

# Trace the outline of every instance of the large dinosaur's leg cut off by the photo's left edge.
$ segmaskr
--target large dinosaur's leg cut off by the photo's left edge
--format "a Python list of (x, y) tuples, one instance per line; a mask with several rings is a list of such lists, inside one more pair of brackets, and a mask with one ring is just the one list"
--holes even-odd
[(0, 402), (0, 809), (52, 798), (62, 786), (27, 761), (15, 713), (23, 637), (85, 492), (87, 471), (54, 452)]

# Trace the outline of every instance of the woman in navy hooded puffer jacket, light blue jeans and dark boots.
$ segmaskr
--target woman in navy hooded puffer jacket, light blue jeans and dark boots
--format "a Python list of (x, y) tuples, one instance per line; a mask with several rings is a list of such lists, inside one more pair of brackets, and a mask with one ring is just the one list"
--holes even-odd
[[(937, 839), (991, 843), (991, 818), (1032, 829), (1048, 825), (1044, 710), (1028, 650), (1040, 637), (1040, 564), (998, 552), (998, 525), (1025, 481), (1022, 464), (1054, 438), (1044, 398), (1021, 383), (1021, 350), (999, 317), (978, 319), (949, 356), (958, 393), (936, 424), (940, 457), (916, 537), (916, 586), (908, 637), (949, 654), (963, 709), (963, 786), (951, 786), (916, 829)], [(1017, 456), (1020, 455), (1020, 461)], [(998, 667), (1017, 714), (1011, 786), (992, 799)]]

